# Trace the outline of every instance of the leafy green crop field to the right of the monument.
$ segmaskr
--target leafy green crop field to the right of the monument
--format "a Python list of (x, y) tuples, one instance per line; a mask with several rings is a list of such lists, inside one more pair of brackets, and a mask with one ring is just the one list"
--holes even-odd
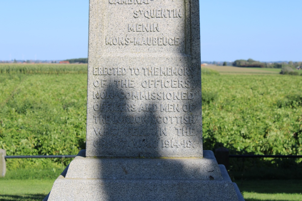
[(225, 146), (231, 154), (301, 155), (301, 88), (297, 86), (302, 86), (301, 77), (203, 76), (202, 93), (218, 93), (215, 101), (203, 102), (204, 149)]

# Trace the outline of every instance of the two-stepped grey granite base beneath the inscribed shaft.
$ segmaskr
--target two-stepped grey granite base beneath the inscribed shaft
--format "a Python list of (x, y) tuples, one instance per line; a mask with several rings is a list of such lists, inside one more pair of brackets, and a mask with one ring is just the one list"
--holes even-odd
[(44, 201), (204, 200), (242, 201), (213, 152), (204, 158), (85, 158), (79, 152)]

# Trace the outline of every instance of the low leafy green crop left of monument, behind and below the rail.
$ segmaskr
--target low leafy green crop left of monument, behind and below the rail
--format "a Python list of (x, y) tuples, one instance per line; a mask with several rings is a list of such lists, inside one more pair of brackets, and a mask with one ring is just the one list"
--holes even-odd
[[(86, 93), (87, 74), (0, 74), (0, 148), (7, 155), (72, 155), (85, 149)], [(61, 159), (7, 160), (8, 169), (61, 164)]]

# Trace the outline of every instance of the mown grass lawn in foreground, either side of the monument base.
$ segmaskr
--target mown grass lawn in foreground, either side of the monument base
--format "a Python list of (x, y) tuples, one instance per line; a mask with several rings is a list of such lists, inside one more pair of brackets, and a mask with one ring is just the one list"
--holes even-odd
[[(0, 200), (42, 200), (54, 180), (0, 180)], [(236, 182), (246, 201), (301, 201), (301, 180), (251, 180)]]

